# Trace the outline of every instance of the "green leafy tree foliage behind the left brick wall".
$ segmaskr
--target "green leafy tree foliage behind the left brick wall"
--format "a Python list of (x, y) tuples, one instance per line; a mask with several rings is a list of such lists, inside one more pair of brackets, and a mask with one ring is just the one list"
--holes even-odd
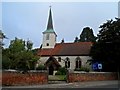
[(18, 38), (11, 40), (9, 48), (3, 50), (3, 69), (34, 69), (38, 57), (32, 52), (32, 45), (32, 42)]

